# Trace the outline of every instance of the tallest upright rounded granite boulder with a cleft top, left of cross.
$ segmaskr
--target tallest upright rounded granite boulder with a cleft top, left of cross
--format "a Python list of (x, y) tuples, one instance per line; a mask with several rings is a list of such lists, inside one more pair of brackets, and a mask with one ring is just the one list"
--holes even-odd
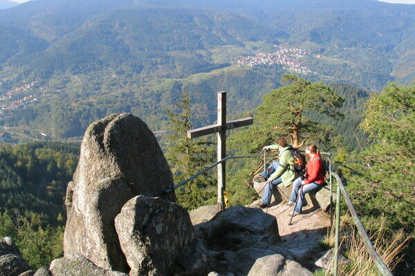
[(129, 268), (120, 248), (114, 219), (136, 195), (160, 196), (173, 185), (156, 137), (138, 117), (122, 113), (87, 128), (80, 161), (66, 191), (65, 256), (84, 255), (102, 268)]

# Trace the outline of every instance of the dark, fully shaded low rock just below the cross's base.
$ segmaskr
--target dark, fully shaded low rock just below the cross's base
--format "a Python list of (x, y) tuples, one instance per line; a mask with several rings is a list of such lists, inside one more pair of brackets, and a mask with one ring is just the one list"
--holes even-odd
[(195, 226), (195, 230), (210, 250), (268, 248), (281, 240), (275, 217), (243, 206), (225, 209), (210, 221)]

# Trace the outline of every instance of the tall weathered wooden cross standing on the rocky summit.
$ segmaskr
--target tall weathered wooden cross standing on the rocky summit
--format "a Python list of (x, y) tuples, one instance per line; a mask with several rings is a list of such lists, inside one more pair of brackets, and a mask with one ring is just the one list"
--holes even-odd
[[(232, 128), (239, 128), (241, 126), (252, 125), (254, 119), (247, 117), (237, 119), (235, 121), (226, 121), (226, 91), (217, 92), (218, 99), (218, 121), (217, 124), (211, 126), (204, 126), (203, 128), (196, 128), (194, 130), (187, 130), (187, 138), (192, 139), (217, 132), (217, 161), (225, 158), (226, 153), (226, 130)], [(217, 211), (225, 209), (225, 201), (223, 199), (223, 191), (225, 191), (225, 161), (218, 164), (218, 201)]]

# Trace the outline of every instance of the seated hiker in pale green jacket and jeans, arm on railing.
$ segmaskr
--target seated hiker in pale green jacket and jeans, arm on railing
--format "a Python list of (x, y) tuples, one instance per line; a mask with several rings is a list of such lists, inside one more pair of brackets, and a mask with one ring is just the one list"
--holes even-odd
[(280, 137), (278, 144), (264, 146), (263, 150), (276, 150), (279, 151), (279, 161), (274, 161), (264, 172), (261, 172), (260, 177), (256, 177), (255, 181), (267, 181), (264, 195), (261, 201), (259, 201), (259, 207), (265, 208), (270, 204), (271, 195), (273, 195), (273, 188), (275, 185), (283, 184), (288, 187), (293, 183), (295, 179), (294, 171), (294, 157), (291, 154), (291, 146), (287, 144), (287, 139)]

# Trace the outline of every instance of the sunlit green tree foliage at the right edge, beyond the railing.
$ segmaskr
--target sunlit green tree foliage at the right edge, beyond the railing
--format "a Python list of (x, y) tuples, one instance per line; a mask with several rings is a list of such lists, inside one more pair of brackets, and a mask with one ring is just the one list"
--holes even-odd
[(391, 230), (414, 234), (415, 85), (391, 83), (367, 102), (362, 121), (375, 139), (361, 154), (351, 155), (348, 187), (356, 210), (365, 221), (385, 217)]

